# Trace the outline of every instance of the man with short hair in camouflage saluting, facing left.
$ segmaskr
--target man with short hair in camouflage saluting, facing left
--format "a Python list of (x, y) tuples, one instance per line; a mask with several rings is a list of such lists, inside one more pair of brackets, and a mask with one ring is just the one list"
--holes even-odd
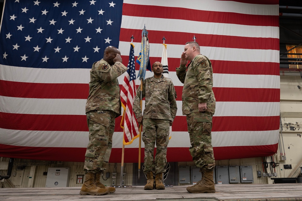
[[(188, 60), (191, 61), (186, 67)], [(202, 173), (198, 181), (187, 190), (190, 193), (214, 193), (213, 154), (211, 130), (215, 113), (213, 68), (211, 61), (200, 54), (197, 42), (187, 42), (182, 53), (180, 67), (176, 68), (178, 79), (184, 83), (182, 90), (182, 113), (187, 115), (188, 132), (192, 159)]]

